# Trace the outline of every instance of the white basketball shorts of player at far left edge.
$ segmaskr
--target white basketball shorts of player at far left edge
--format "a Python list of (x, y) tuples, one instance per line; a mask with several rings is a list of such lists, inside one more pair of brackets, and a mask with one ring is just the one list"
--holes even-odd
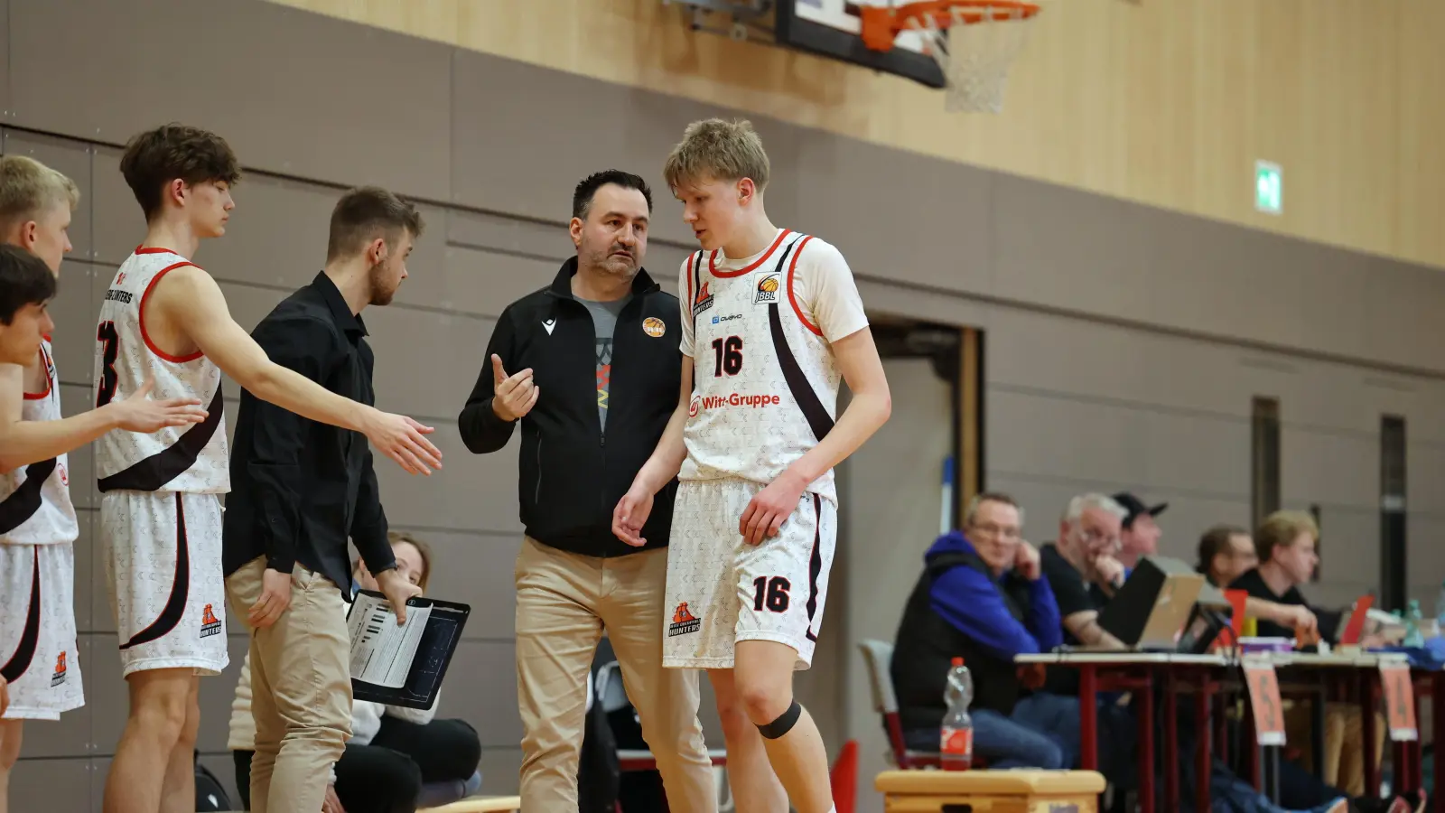
[(0, 674), (7, 720), (58, 720), (85, 705), (71, 542), (0, 545)]

